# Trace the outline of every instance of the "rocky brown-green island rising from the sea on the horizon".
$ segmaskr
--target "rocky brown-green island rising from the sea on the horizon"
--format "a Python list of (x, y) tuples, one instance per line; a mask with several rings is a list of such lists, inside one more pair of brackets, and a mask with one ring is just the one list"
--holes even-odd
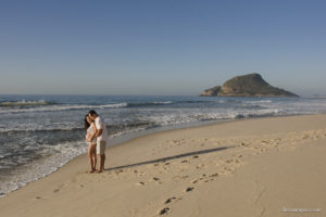
[(260, 74), (252, 73), (242, 76), (236, 76), (223, 86), (216, 86), (204, 90), (200, 97), (268, 97), (268, 98), (288, 98), (299, 97), (287, 90), (272, 87)]

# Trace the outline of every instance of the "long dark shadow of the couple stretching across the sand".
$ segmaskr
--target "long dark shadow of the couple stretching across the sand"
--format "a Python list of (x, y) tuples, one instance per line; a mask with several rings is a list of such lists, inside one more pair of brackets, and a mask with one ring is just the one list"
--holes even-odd
[(188, 152), (188, 153), (184, 153), (184, 154), (162, 157), (162, 158), (152, 159), (152, 161), (148, 161), (148, 162), (140, 162), (140, 163), (135, 163), (135, 164), (129, 164), (129, 165), (124, 165), (124, 166), (116, 166), (116, 167), (112, 167), (112, 168), (105, 168), (104, 170), (105, 171), (111, 171), (111, 170), (123, 169), (123, 168), (127, 168), (127, 167), (134, 167), (134, 166), (147, 165), (147, 164), (155, 164), (155, 163), (166, 162), (166, 161), (170, 161), (170, 159), (176, 159), (176, 158), (181, 158), (181, 157), (186, 157), (186, 156), (195, 156), (195, 155), (200, 155), (200, 154), (206, 154), (206, 153), (210, 153), (210, 152), (218, 152), (218, 151), (227, 150), (227, 149), (230, 149), (230, 148), (234, 148), (234, 146), (222, 146), (222, 148), (201, 150), (201, 151), (196, 151), (196, 152)]

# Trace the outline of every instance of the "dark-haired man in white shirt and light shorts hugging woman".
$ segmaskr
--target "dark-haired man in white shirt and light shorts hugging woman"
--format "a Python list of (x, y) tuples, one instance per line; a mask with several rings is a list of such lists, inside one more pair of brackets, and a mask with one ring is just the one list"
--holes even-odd
[(103, 122), (103, 119), (93, 110), (88, 112), (88, 116), (95, 122), (97, 128), (93, 138), (97, 138), (97, 154), (100, 159), (100, 167), (99, 170), (97, 170), (96, 173), (100, 174), (103, 171), (104, 163), (105, 163), (105, 148), (108, 143), (106, 125)]

